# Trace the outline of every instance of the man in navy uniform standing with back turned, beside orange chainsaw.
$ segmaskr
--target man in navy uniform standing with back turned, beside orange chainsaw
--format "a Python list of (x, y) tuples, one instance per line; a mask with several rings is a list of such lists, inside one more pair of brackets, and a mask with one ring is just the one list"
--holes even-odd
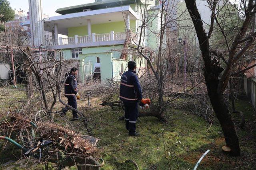
[(120, 81), (120, 100), (124, 102), (126, 129), (130, 136), (138, 136), (136, 121), (138, 118), (138, 102), (142, 100), (142, 91), (136, 75), (136, 62), (128, 62), (128, 71), (124, 72)]

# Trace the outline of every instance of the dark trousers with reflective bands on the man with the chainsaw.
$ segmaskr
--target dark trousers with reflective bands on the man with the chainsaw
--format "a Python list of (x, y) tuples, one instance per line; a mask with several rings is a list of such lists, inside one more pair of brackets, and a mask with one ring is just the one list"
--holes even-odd
[(134, 133), (136, 130), (136, 121), (138, 119), (138, 102), (128, 103), (124, 102), (124, 119), (126, 129), (129, 129), (129, 133)]

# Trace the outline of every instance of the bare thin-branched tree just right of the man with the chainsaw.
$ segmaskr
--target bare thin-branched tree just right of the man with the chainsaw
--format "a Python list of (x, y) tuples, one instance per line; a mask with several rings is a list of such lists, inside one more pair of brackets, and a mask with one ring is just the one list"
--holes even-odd
[[(153, 14), (148, 14), (147, 10), (145, 10), (148, 8), (146, 4), (144, 6), (142, 4), (140, 5), (142, 16), (141, 25), (136, 32), (137, 39), (132, 39), (136, 47), (130, 46), (141, 58), (147, 61), (148, 72), (145, 74), (147, 81), (145, 81), (143, 89), (149, 92), (149, 96), (154, 101), (154, 106), (151, 108), (150, 113), (143, 113), (141, 116), (155, 116), (162, 121), (166, 121), (164, 116), (168, 104), (178, 98), (178, 96), (171, 93), (174, 88), (172, 86), (174, 74), (170, 69), (170, 67), (176, 66), (177, 63), (175, 60), (178, 59), (170, 60), (170, 51), (172, 51), (175, 45), (170, 41), (166, 41), (166, 33), (170, 31), (170, 28), (176, 27), (170, 23), (174, 23), (183, 14), (170, 16), (169, 13), (174, 10), (175, 5), (170, 5), (169, 2), (168, 0), (159, 1), (158, 6), (154, 7), (157, 12)], [(154, 20), (159, 20), (160, 30), (156, 32), (150, 28)], [(158, 37), (157, 48), (156, 50), (151, 49), (150, 55), (148, 55), (148, 51), (150, 50), (145, 45), (146, 37), (148, 36), (145, 30)]]

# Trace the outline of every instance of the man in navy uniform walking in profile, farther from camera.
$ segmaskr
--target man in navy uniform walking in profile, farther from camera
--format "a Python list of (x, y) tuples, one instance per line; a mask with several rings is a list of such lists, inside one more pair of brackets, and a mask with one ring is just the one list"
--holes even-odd
[[(77, 82), (76, 82), (76, 75), (77, 75), (77, 68), (71, 68), (68, 78), (65, 80), (64, 84), (64, 93), (65, 97), (68, 98), (68, 105), (77, 108), (76, 99), (80, 99), (79, 94), (76, 92), (77, 90)], [(66, 106), (68, 107), (68, 106)], [(65, 108), (66, 108), (65, 107)], [(66, 115), (66, 112), (69, 109), (62, 109), (62, 115)], [(76, 111), (72, 110), (73, 118), (70, 121), (78, 120), (78, 115)]]

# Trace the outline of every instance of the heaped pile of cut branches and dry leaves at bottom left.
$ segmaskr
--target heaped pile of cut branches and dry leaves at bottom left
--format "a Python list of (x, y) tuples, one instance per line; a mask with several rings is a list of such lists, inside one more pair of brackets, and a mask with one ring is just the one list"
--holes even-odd
[(84, 163), (97, 157), (98, 139), (82, 135), (57, 123), (30, 121), (26, 115), (12, 114), (0, 122), (0, 139), (22, 149), (22, 157), (36, 162), (54, 162), (62, 166)]

